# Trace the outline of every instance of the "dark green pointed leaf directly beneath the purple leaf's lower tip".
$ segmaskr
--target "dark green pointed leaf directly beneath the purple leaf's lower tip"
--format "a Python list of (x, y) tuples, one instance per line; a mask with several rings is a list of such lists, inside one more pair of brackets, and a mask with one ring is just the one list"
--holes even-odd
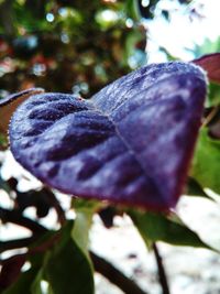
[(187, 228), (175, 216), (155, 213), (130, 211), (130, 216), (147, 247), (152, 242), (163, 241), (174, 246), (189, 246), (210, 249), (196, 232)]

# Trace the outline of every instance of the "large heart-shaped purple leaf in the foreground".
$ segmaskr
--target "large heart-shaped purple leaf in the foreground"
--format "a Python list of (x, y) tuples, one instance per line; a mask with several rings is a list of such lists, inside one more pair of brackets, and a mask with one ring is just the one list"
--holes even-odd
[(11, 150), (64, 193), (168, 209), (186, 181), (205, 80), (199, 67), (174, 62), (142, 67), (90, 100), (33, 96), (12, 118)]

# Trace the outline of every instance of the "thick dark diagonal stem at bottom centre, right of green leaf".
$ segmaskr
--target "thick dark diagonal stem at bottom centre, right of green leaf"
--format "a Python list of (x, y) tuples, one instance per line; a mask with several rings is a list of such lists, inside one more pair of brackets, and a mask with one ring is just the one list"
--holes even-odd
[(107, 277), (111, 283), (121, 288), (125, 294), (147, 294), (143, 292), (132, 280), (127, 277), (122, 272), (116, 269), (107, 260), (90, 252), (95, 270)]

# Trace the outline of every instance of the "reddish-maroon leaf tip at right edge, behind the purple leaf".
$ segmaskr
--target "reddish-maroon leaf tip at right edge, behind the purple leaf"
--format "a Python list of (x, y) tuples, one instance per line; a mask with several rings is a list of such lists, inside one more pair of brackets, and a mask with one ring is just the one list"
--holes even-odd
[(201, 66), (210, 80), (220, 84), (220, 53), (205, 55), (193, 63)]

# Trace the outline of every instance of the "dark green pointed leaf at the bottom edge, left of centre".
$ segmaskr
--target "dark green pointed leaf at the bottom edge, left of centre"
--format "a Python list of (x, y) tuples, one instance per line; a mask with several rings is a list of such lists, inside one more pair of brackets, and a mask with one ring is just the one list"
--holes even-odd
[(92, 294), (92, 270), (87, 257), (72, 239), (73, 222), (61, 231), (61, 239), (47, 253), (45, 277), (54, 294)]

